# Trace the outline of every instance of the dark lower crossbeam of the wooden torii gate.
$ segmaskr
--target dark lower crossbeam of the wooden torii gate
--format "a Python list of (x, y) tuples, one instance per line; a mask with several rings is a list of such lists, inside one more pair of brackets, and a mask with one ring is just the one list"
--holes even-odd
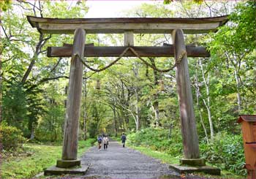
[[(86, 57), (118, 57), (127, 47), (85, 47), (84, 56)], [(162, 47), (133, 47), (140, 56), (147, 57), (170, 57), (174, 56), (173, 45)], [(206, 47), (195, 47), (187, 45), (187, 56), (189, 57), (209, 57), (210, 53)], [(65, 47), (48, 47), (48, 57), (70, 57), (72, 46)], [(135, 56), (130, 50), (124, 56)]]

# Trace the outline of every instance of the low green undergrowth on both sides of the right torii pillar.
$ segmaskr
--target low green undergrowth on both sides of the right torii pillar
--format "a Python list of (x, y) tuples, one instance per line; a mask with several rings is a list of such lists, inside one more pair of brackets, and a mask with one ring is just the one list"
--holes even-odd
[[(162, 151), (169, 154), (170, 157), (181, 157), (183, 155), (183, 145), (179, 130), (173, 129), (170, 140), (168, 140), (167, 129), (141, 129), (140, 132), (127, 135), (127, 144), (150, 156), (157, 156), (153, 151)], [(143, 148), (147, 148), (151, 152), (146, 152)], [(218, 133), (209, 144), (202, 142), (200, 151), (208, 163), (232, 171), (237, 175), (246, 174), (243, 168), (245, 159), (241, 135), (228, 134), (227, 132)]]

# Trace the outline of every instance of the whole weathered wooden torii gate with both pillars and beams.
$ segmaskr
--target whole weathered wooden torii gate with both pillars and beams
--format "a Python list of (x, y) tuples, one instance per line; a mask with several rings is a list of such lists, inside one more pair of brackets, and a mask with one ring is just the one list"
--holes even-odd
[[(192, 103), (191, 83), (187, 56), (208, 57), (205, 47), (186, 46), (185, 34), (206, 34), (217, 31), (227, 22), (227, 16), (214, 18), (37, 18), (27, 16), (32, 27), (44, 34), (73, 34), (73, 45), (48, 47), (48, 57), (72, 57), (69, 74), (69, 92), (64, 126), (62, 158), (56, 167), (70, 168), (80, 165), (77, 159), (78, 129), (80, 116), (80, 96), (82, 91), (83, 64), (86, 57), (124, 56), (176, 58), (176, 84), (181, 116), (181, 134), (184, 146), (184, 159), (181, 164), (204, 166), (200, 158), (199, 144)], [(122, 47), (94, 47), (85, 45), (86, 34), (124, 34)], [(133, 34), (172, 34), (173, 45), (162, 47), (135, 47)], [(137, 55), (132, 51), (135, 50)]]

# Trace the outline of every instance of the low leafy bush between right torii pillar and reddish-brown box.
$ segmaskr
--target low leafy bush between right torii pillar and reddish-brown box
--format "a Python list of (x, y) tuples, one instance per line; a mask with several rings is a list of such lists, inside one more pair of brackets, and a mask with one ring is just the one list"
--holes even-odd
[(241, 135), (227, 134), (227, 132), (218, 133), (211, 143), (200, 144), (200, 151), (209, 163), (238, 175), (246, 175)]

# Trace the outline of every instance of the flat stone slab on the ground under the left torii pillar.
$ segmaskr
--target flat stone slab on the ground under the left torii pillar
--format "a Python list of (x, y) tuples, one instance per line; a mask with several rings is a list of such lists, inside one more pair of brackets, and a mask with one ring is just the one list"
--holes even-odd
[(44, 171), (45, 175), (86, 175), (86, 171), (88, 170), (88, 166), (80, 166), (73, 168), (59, 168), (59, 167), (50, 167)]

